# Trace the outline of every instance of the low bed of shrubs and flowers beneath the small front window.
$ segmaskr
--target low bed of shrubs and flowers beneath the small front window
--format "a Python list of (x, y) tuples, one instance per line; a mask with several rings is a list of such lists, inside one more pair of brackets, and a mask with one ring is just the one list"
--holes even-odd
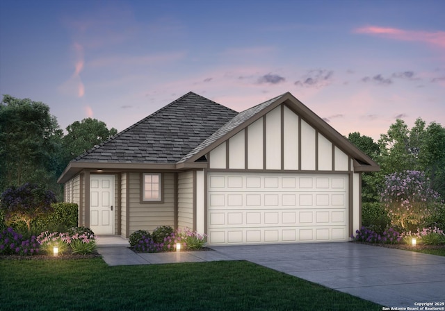
[(163, 226), (156, 228), (150, 235), (145, 230), (138, 230), (130, 235), (131, 248), (138, 252), (158, 253), (162, 251), (175, 251), (176, 244), (187, 250), (202, 249), (206, 236), (200, 235), (188, 228), (175, 230)]

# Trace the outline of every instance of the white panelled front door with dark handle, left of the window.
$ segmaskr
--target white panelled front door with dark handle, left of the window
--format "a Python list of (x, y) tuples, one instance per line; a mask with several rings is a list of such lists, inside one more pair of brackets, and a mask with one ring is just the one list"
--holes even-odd
[(114, 234), (114, 176), (90, 175), (90, 228), (97, 235)]

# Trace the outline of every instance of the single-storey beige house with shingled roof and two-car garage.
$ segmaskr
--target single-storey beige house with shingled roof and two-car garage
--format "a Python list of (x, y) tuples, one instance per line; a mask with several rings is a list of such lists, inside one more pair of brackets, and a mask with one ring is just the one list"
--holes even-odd
[(191, 228), (210, 245), (344, 242), (371, 158), (287, 92), (243, 112), (189, 92), (58, 179), (79, 226), (129, 237)]

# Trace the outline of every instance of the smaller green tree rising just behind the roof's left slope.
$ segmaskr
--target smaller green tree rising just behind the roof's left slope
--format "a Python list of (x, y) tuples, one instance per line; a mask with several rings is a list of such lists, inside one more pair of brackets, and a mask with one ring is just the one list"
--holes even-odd
[(67, 162), (118, 133), (115, 128), (108, 130), (103, 121), (91, 118), (75, 121), (67, 126), (67, 132), (63, 137)]

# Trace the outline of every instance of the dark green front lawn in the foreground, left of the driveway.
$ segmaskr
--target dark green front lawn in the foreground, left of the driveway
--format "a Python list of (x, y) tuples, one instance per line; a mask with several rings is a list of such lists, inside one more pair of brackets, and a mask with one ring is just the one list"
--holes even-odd
[(246, 261), (0, 260), (0, 310), (382, 310)]

